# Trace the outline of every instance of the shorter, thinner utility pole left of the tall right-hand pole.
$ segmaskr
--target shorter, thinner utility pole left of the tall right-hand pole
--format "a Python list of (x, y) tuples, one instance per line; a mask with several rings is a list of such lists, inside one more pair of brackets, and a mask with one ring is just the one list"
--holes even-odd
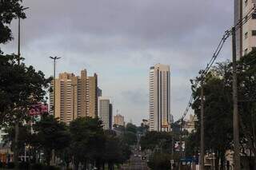
[(204, 133), (204, 92), (203, 92), (203, 77), (201, 80), (201, 142), (200, 142), (200, 170), (204, 170), (205, 168), (205, 133)]

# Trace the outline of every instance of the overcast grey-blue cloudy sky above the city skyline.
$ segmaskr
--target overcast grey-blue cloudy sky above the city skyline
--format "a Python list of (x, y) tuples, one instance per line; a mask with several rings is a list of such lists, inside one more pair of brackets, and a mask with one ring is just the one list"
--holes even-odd
[[(98, 73), (103, 96), (114, 110), (139, 124), (148, 118), (149, 68), (170, 65), (171, 113), (181, 117), (190, 78), (205, 67), (233, 23), (234, 0), (24, 0), (22, 56), (53, 73), (49, 56), (62, 57), (57, 72)], [(1, 46), (17, 53), (14, 42)], [(230, 58), (230, 39), (218, 61)], [(114, 112), (115, 114), (115, 112)]]

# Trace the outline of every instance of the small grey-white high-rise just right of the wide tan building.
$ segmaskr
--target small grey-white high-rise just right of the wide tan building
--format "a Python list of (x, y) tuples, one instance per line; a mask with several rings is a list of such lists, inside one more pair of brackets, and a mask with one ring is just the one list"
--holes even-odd
[(98, 117), (102, 121), (104, 129), (112, 128), (112, 104), (110, 99), (106, 97), (99, 97), (98, 99)]

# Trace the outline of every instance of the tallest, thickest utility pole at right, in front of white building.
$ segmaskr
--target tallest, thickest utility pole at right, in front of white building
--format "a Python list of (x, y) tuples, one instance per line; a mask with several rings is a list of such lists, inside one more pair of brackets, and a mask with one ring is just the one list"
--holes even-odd
[(238, 122), (238, 76), (235, 28), (232, 28), (232, 56), (233, 56), (233, 135), (234, 135), (234, 170), (240, 170), (240, 144)]

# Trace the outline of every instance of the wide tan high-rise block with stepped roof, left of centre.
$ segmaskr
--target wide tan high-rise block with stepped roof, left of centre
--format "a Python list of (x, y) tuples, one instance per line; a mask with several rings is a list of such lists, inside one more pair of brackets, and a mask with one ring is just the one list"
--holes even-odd
[(81, 76), (74, 73), (60, 73), (55, 79), (54, 92), (50, 93), (50, 113), (53, 113), (55, 98), (55, 115), (60, 121), (73, 121), (77, 117), (98, 116), (98, 77), (87, 77), (86, 69)]

